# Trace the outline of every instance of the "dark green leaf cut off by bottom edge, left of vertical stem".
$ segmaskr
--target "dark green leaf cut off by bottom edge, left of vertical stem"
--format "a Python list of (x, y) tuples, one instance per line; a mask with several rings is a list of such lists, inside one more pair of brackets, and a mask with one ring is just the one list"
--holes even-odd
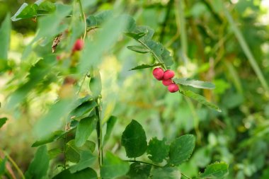
[(70, 173), (69, 169), (62, 171), (53, 179), (78, 179), (78, 178), (87, 178), (87, 179), (96, 179), (97, 174), (92, 168), (85, 168), (82, 171), (76, 173)]

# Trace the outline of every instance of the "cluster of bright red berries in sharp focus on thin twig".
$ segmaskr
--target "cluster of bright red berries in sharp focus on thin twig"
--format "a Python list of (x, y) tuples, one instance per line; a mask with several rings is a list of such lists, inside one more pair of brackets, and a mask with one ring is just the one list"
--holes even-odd
[(168, 69), (164, 71), (161, 68), (156, 68), (152, 71), (152, 74), (155, 79), (162, 81), (164, 86), (168, 86), (168, 91), (171, 93), (175, 93), (179, 90), (178, 85), (172, 81), (173, 76), (175, 76), (173, 70)]

